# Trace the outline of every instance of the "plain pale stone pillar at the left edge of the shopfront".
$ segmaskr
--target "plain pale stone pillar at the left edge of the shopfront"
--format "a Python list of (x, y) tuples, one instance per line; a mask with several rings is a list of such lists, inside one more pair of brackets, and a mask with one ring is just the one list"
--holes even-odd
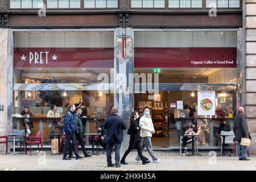
[[(7, 133), (7, 39), (8, 29), (0, 28), (0, 135)], [(5, 152), (5, 144), (0, 144), (0, 152)]]

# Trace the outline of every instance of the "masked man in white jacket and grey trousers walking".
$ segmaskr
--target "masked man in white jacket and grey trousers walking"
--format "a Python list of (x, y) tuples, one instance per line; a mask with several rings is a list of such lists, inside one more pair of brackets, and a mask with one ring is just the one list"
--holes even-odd
[[(150, 116), (150, 109), (148, 106), (143, 108), (143, 117), (139, 119), (139, 126), (141, 127), (141, 138), (142, 138), (142, 147), (141, 150), (142, 152), (144, 151), (144, 148), (147, 148), (148, 153), (150, 154), (152, 160), (154, 163), (160, 162), (161, 159), (156, 158), (153, 148), (152, 148), (152, 143), (151, 143), (151, 137), (152, 134), (155, 133), (154, 125), (152, 123), (152, 119)], [(137, 158), (135, 159), (135, 162), (141, 162), (141, 158), (139, 155), (137, 155)]]

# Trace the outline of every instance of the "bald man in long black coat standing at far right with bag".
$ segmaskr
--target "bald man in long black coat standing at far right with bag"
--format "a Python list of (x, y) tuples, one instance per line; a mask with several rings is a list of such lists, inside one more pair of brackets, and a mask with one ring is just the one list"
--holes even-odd
[(238, 114), (235, 118), (235, 133), (236, 140), (238, 142), (237, 152), (239, 160), (250, 160), (247, 158), (247, 146), (241, 146), (241, 138), (250, 138), (245, 115), (243, 114), (245, 109), (243, 107), (238, 108)]

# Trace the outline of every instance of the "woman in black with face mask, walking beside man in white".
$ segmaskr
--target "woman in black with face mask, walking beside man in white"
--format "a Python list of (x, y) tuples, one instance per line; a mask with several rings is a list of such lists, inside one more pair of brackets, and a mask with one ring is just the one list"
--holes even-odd
[(141, 127), (139, 126), (138, 118), (139, 118), (138, 111), (133, 111), (133, 113), (131, 113), (131, 117), (130, 117), (130, 127), (129, 127), (129, 130), (127, 132), (127, 134), (129, 134), (131, 136), (129, 147), (126, 150), (125, 154), (123, 154), (123, 157), (122, 157), (121, 162), (120, 162), (123, 165), (128, 164), (128, 163), (125, 162), (125, 158), (130, 153), (130, 151), (135, 149), (135, 148), (137, 149), (138, 155), (142, 160), (142, 164), (150, 163), (150, 160), (148, 160), (145, 156), (142, 155), (141, 136), (140, 136)]

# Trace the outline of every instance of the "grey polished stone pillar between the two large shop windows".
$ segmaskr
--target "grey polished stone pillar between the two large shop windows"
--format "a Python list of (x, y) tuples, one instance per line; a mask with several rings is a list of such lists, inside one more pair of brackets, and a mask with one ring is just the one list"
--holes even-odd
[[(123, 58), (122, 36), (126, 37), (125, 58)], [(134, 110), (133, 30), (131, 28), (116, 28), (114, 39), (114, 106), (118, 108), (119, 116), (125, 120), (128, 127), (131, 111)], [(127, 135), (127, 130), (128, 128), (124, 130), (121, 152), (124, 152), (129, 146), (130, 136)]]

